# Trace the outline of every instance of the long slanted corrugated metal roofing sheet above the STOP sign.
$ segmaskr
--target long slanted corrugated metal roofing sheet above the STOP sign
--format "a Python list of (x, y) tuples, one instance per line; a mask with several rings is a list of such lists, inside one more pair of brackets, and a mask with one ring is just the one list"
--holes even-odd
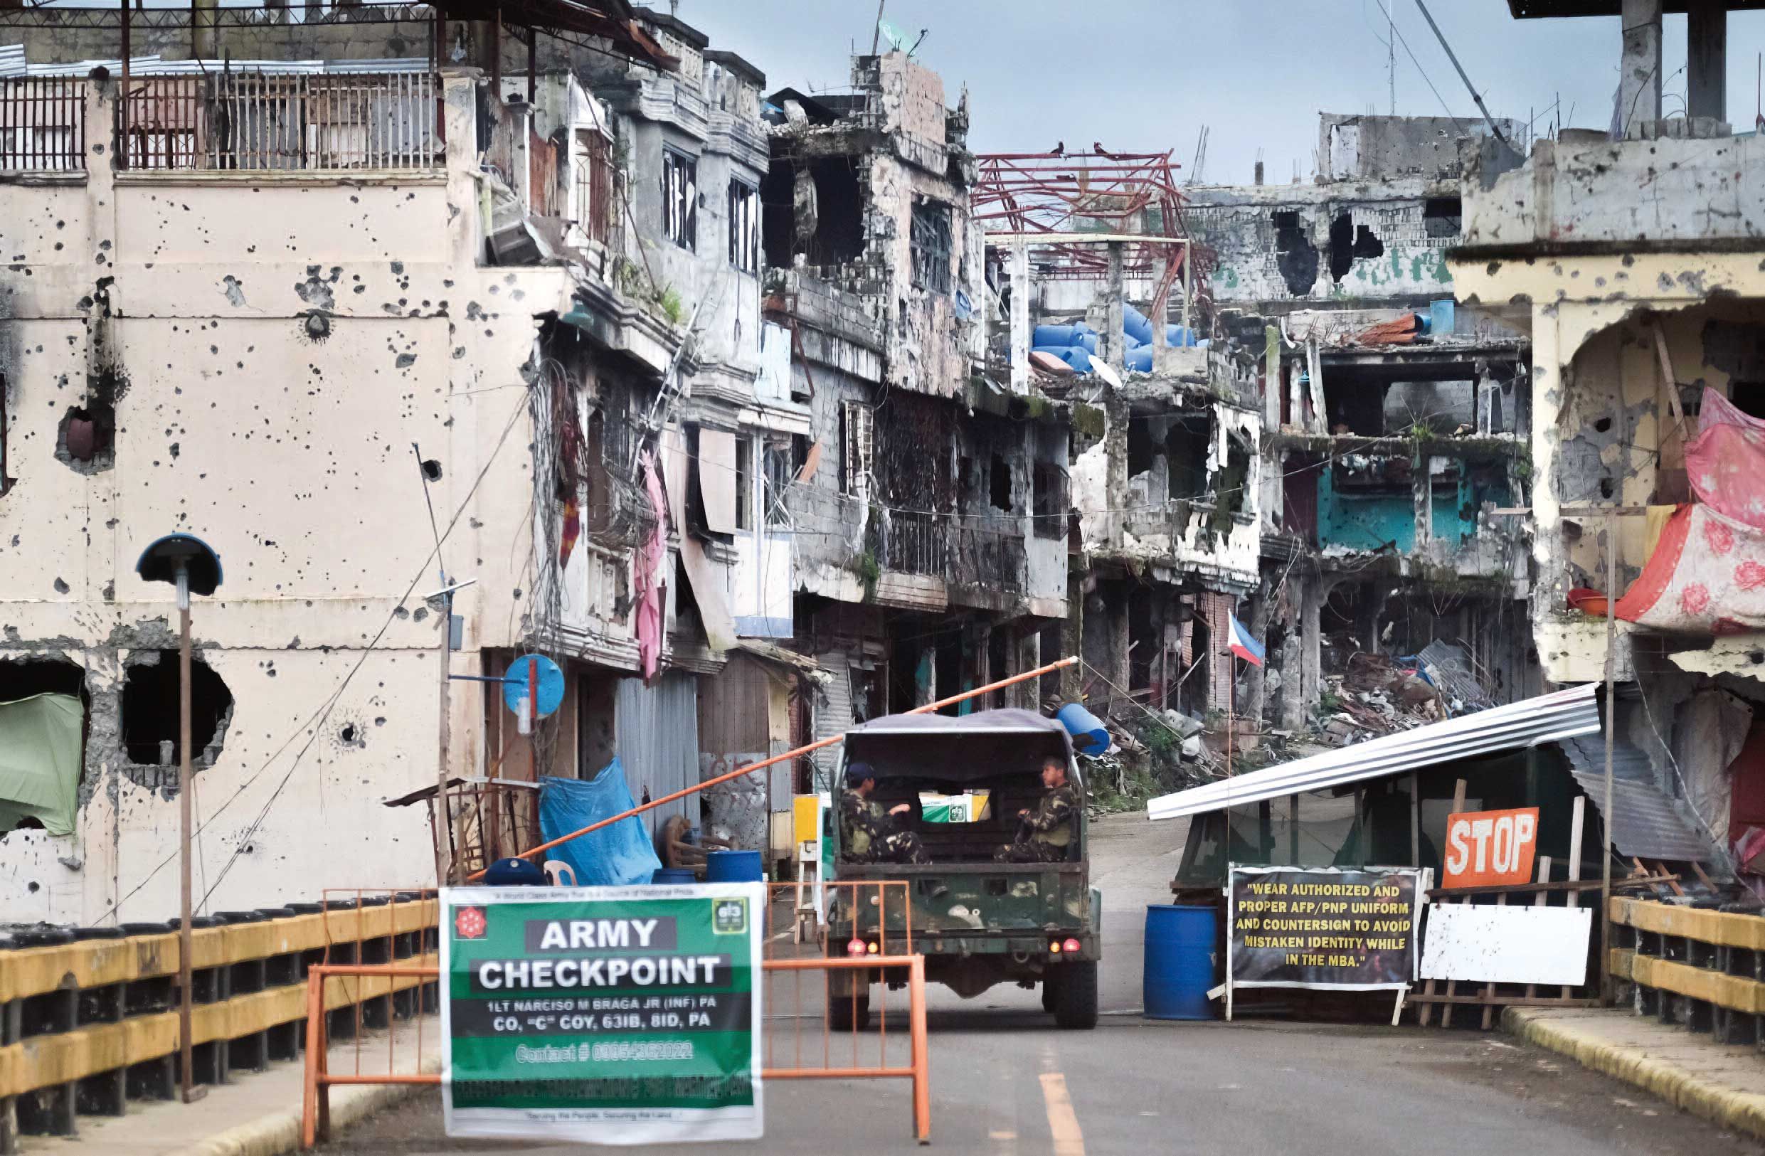
[(1278, 799), (1296, 791), (1320, 791), (1341, 784), (1384, 778), (1454, 759), (1560, 743), (1599, 731), (1596, 687), (1574, 687), (1495, 706), (1476, 715), (1400, 731), (1370, 743), (1327, 750), (1310, 759), (1269, 766), (1250, 775), (1221, 778), (1188, 791), (1151, 799), (1147, 819), (1181, 819), (1221, 807)]

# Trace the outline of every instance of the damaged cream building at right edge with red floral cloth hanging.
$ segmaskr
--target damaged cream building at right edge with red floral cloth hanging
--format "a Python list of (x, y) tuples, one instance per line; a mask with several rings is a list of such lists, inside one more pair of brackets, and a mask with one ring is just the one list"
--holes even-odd
[[(1627, 2), (1613, 122), (1560, 129), (1523, 157), (1468, 148), (1447, 261), (1461, 312), (1532, 348), (1516, 499), (1530, 505), (1541, 676), (1599, 681), (1619, 598), (1620, 789), (1636, 778), (1668, 796), (1716, 861), (1758, 874), (1765, 157), (1726, 106), (1733, 7), (1689, 5), (1687, 55), (1664, 62), (1663, 4)], [(1594, 12), (1617, 5), (1514, 5)], [(1686, 78), (1684, 115), (1663, 104), (1663, 67)], [(1626, 861), (1661, 858), (1647, 831), (1617, 831)]]

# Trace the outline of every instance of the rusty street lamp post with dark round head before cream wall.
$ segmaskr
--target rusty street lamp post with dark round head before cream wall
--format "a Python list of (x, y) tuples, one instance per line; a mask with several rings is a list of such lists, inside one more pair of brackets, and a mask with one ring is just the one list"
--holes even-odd
[(178, 1091), (191, 1103), (205, 1094), (191, 1061), (191, 595), (221, 586), (221, 556), (175, 533), (141, 551), (134, 572), (178, 591)]

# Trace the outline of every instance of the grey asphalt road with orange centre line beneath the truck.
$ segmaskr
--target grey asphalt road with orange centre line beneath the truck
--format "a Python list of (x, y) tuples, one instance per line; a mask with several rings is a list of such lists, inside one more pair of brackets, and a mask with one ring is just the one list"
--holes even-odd
[[(1151, 1022), (1140, 1008), (1147, 902), (1168, 902), (1181, 824), (1123, 815), (1093, 828), (1105, 897), (1103, 1020), (1063, 1032), (1036, 992), (930, 997), (932, 1144), (951, 1152), (1649, 1152), (1724, 1156), (1758, 1144), (1500, 1032), (1290, 1020)], [(770, 1027), (780, 1031), (784, 995)], [(891, 1004), (900, 1006), (900, 1004)], [(904, 1018), (890, 1017), (891, 1045)], [(785, 1025), (789, 1025), (785, 1022)], [(819, 1024), (814, 1025), (819, 1032)], [(815, 1036), (819, 1048), (819, 1034)], [(838, 1047), (838, 1045), (837, 1045)], [(865, 1047), (875, 1047), (874, 1036)], [(891, 1047), (893, 1050), (893, 1047)], [(777, 1062), (777, 1061), (775, 1061)], [(577, 1152), (454, 1142), (436, 1094), (327, 1151)], [(650, 1152), (914, 1151), (905, 1082), (770, 1082), (766, 1138)]]

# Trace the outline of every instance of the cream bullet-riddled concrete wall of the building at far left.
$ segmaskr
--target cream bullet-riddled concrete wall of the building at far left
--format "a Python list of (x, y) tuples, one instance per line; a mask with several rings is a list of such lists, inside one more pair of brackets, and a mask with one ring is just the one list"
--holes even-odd
[[(109, 108), (95, 86), (88, 124)], [(154, 709), (125, 709), (131, 672), (176, 646), (171, 588), (134, 561), (173, 531), (226, 568), (194, 607), (231, 695), (196, 775), (207, 907), (432, 879), (424, 810), (379, 805), (436, 775), (439, 619), (420, 595), (438, 575), (411, 443), (439, 464), (441, 526), (457, 515), (448, 572), (478, 579), (454, 658), (477, 672), (522, 627), (522, 367), (535, 314), (568, 302), (561, 270), (478, 268), (471, 81), (447, 113), (432, 175), (115, 173), (95, 134), (83, 180), (0, 182), (0, 664), (78, 664), (92, 702), (78, 829), (0, 840), (0, 921), (176, 909), (178, 801), (124, 748)], [(102, 401), (109, 462), (62, 461), (69, 408)], [(482, 709), (454, 702), (459, 773)]]

